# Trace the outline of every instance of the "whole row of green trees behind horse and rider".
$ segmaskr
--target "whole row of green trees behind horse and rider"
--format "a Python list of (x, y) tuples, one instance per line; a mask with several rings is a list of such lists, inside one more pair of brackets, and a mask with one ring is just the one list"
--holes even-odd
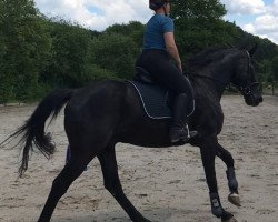
[[(172, 0), (171, 17), (182, 60), (211, 46), (259, 42), (260, 81), (278, 80), (278, 47), (225, 21), (218, 0)], [(0, 0), (0, 103), (37, 100), (58, 88), (106, 79), (131, 79), (145, 24), (131, 21), (98, 32), (47, 18), (33, 0)]]

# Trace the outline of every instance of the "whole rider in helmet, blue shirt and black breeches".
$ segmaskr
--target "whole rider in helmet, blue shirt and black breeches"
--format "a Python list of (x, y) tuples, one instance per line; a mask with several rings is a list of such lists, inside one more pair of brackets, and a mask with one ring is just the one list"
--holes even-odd
[[(142, 53), (136, 67), (147, 70), (153, 79), (177, 93), (173, 101), (173, 119), (169, 138), (171, 142), (187, 141), (197, 134), (189, 131), (187, 119), (193, 102), (192, 88), (182, 74), (181, 60), (173, 37), (173, 21), (169, 17), (169, 0), (149, 0), (155, 16), (148, 21), (143, 33)], [(170, 57), (177, 67), (170, 61)]]

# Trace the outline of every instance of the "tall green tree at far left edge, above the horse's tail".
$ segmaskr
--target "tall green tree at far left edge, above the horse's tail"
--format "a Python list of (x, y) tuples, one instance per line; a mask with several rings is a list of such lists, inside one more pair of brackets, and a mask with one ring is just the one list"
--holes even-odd
[(0, 97), (28, 100), (38, 90), (38, 77), (50, 49), (43, 19), (31, 0), (0, 2)]

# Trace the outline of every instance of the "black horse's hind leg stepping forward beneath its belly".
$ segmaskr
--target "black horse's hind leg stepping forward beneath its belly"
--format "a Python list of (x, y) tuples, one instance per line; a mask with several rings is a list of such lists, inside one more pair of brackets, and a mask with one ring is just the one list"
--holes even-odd
[(137, 211), (137, 209), (132, 205), (122, 191), (118, 175), (115, 145), (109, 145), (109, 148), (102, 154), (98, 155), (98, 159), (103, 173), (105, 188), (115, 196), (118, 203), (128, 213), (130, 219), (133, 222), (150, 222)]

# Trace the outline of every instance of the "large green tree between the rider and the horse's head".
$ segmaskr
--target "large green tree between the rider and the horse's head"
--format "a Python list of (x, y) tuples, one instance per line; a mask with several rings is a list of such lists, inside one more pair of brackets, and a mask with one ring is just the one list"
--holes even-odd
[(218, 0), (172, 0), (171, 17), (181, 57), (215, 44), (231, 43), (236, 26), (222, 20), (225, 6)]

